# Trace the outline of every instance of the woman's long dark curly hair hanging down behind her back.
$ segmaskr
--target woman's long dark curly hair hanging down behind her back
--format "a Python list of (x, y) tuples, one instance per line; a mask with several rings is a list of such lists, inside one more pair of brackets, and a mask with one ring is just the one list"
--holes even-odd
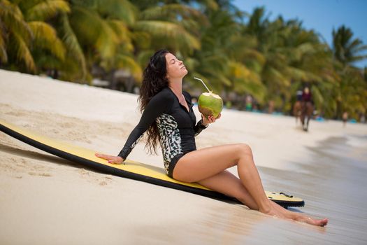
[[(149, 64), (145, 67), (143, 72), (143, 83), (140, 88), (140, 95), (138, 102), (140, 104), (141, 112), (144, 111), (145, 106), (150, 102), (150, 99), (155, 94), (168, 87), (168, 79), (166, 78), (166, 54), (168, 50), (162, 49), (150, 57)], [(147, 143), (145, 149), (150, 153), (157, 153), (157, 144), (159, 143), (159, 131), (157, 123), (154, 122), (147, 129)]]

